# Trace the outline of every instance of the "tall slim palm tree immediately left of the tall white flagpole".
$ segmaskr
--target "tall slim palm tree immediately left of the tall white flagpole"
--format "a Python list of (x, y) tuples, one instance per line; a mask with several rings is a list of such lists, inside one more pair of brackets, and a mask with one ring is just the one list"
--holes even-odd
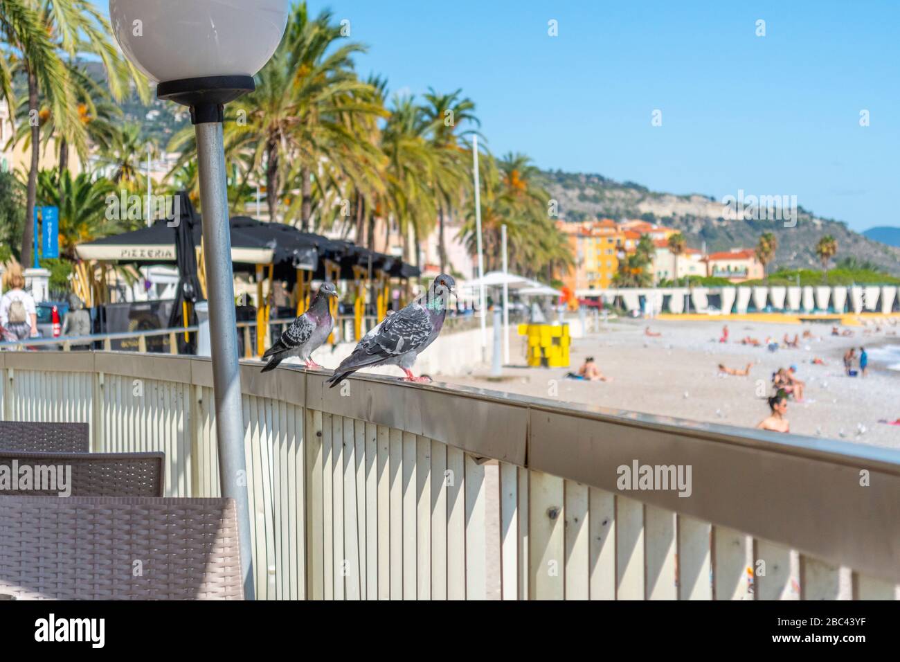
[(437, 150), (442, 164), (442, 173), (435, 182), (438, 195), (437, 254), (441, 273), (446, 270), (445, 215), (453, 213), (468, 189), (469, 182), (469, 159), (465, 159), (460, 138), (475, 132), (469, 130), (457, 133), (457, 128), (464, 122), (476, 126), (481, 126), (482, 123), (474, 114), (473, 101), (468, 97), (460, 98), (462, 92), (462, 89), (457, 89), (450, 94), (439, 95), (429, 87), (428, 94), (425, 95), (428, 104), (424, 110), (430, 125), (431, 144)]

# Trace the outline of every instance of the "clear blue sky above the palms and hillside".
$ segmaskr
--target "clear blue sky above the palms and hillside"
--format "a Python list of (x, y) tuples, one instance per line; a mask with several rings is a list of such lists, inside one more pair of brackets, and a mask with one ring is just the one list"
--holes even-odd
[(797, 195), (856, 230), (900, 225), (900, 2), (310, 6), (369, 46), (362, 75), (417, 95), (462, 87), (494, 153), (677, 194)]

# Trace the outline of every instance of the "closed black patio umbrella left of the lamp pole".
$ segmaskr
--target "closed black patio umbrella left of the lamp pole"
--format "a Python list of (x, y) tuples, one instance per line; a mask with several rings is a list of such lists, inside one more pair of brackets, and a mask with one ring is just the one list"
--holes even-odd
[[(169, 316), (169, 328), (192, 326), (197, 323), (197, 313), (193, 306), (202, 296), (200, 278), (197, 276), (197, 252), (194, 238), (194, 226), (199, 226), (199, 217), (193, 208), (191, 198), (184, 191), (177, 196), (179, 210), (175, 231), (175, 263), (178, 267), (178, 286), (175, 288), (175, 303)], [(173, 214), (174, 217), (174, 214)], [(184, 304), (189, 304), (185, 306)], [(184, 313), (187, 312), (187, 319)], [(190, 338), (190, 336), (187, 336)], [(195, 337), (194, 337), (195, 338)], [(185, 340), (185, 334), (179, 333), (178, 353), (193, 354), (196, 341)]]

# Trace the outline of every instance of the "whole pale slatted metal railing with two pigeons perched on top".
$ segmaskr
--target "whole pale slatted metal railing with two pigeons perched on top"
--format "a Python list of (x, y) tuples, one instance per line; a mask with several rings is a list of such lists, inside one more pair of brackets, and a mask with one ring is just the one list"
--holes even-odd
[[(94, 451), (165, 452), (166, 495), (218, 494), (209, 360), (0, 367), (5, 420), (90, 422)], [(258, 368), (241, 366), (258, 598), (896, 597), (900, 451)], [(641, 467), (688, 481), (623, 482)]]

